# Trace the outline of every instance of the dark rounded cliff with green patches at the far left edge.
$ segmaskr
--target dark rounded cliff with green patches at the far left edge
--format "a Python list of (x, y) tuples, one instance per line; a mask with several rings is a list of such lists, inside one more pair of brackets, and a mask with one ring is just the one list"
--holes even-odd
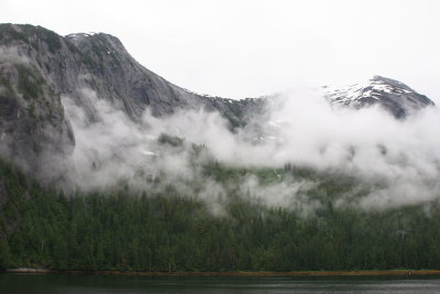
[(68, 48), (42, 28), (1, 25), (0, 32), (0, 148), (34, 170), (45, 164), (43, 155), (69, 154), (75, 145), (55, 87)]

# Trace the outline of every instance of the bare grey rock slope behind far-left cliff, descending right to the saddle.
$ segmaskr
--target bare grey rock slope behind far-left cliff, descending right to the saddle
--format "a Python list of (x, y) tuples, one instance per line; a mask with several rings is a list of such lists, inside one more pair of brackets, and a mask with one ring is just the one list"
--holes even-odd
[(66, 40), (85, 56), (88, 86), (100, 97), (121, 104), (133, 119), (140, 118), (147, 107), (157, 117), (180, 108), (204, 107), (208, 111), (218, 110), (232, 124), (240, 124), (253, 101), (202, 97), (177, 87), (139, 64), (117, 37), (108, 34), (70, 34)]

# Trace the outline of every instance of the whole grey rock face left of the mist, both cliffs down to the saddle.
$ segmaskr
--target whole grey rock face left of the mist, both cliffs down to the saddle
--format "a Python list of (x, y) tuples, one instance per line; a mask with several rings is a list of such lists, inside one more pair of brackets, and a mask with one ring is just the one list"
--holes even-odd
[(260, 99), (205, 97), (177, 87), (140, 65), (108, 34), (65, 37), (41, 26), (0, 24), (0, 138), (2, 154), (32, 163), (43, 153), (68, 154), (75, 135), (62, 105), (68, 96), (94, 121), (88, 92), (122, 109), (134, 121), (178, 109), (219, 111), (231, 128), (262, 109)]

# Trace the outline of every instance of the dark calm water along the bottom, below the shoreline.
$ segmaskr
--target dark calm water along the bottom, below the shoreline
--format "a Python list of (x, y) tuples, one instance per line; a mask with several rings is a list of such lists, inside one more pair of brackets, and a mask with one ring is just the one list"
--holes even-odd
[(440, 293), (440, 277), (0, 274), (0, 293)]

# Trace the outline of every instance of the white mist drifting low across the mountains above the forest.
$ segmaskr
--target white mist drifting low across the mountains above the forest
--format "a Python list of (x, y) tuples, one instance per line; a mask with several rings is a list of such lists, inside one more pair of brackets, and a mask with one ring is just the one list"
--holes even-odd
[[(321, 88), (297, 88), (271, 98), (264, 115), (231, 132), (217, 112), (180, 110), (156, 118), (145, 111), (142, 120), (134, 122), (90, 89), (82, 89), (81, 95), (96, 118), (67, 96), (63, 105), (76, 137), (67, 177), (85, 190), (124, 183), (163, 192), (172, 185), (182, 195), (205, 200), (221, 216), (231, 189), (204, 174), (204, 165), (216, 162), (251, 171), (237, 184), (246, 200), (304, 214), (322, 205), (307, 196), (319, 179), (277, 174), (286, 164), (359, 179), (353, 194), (338, 195), (338, 207), (387, 209), (439, 196), (440, 135), (432, 128), (440, 123), (437, 108), (396, 120), (376, 107), (356, 111), (332, 108)], [(180, 143), (161, 143), (164, 134)], [(197, 156), (195, 146), (201, 150)], [(262, 183), (252, 174), (258, 168), (273, 168), (278, 181)], [(364, 187), (366, 193), (353, 200)]]

